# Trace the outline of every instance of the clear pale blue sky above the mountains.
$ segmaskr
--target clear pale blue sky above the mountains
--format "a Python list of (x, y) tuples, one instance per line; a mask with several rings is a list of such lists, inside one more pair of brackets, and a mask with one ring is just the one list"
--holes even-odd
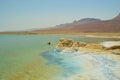
[(47, 28), (82, 18), (107, 20), (120, 0), (0, 0), (0, 31)]

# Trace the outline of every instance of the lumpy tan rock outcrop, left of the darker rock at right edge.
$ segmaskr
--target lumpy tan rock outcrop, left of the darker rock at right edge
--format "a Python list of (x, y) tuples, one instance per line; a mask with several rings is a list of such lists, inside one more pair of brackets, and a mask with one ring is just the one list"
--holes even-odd
[(56, 48), (78, 49), (79, 47), (103, 49), (103, 46), (95, 43), (76, 42), (70, 39), (60, 39)]

